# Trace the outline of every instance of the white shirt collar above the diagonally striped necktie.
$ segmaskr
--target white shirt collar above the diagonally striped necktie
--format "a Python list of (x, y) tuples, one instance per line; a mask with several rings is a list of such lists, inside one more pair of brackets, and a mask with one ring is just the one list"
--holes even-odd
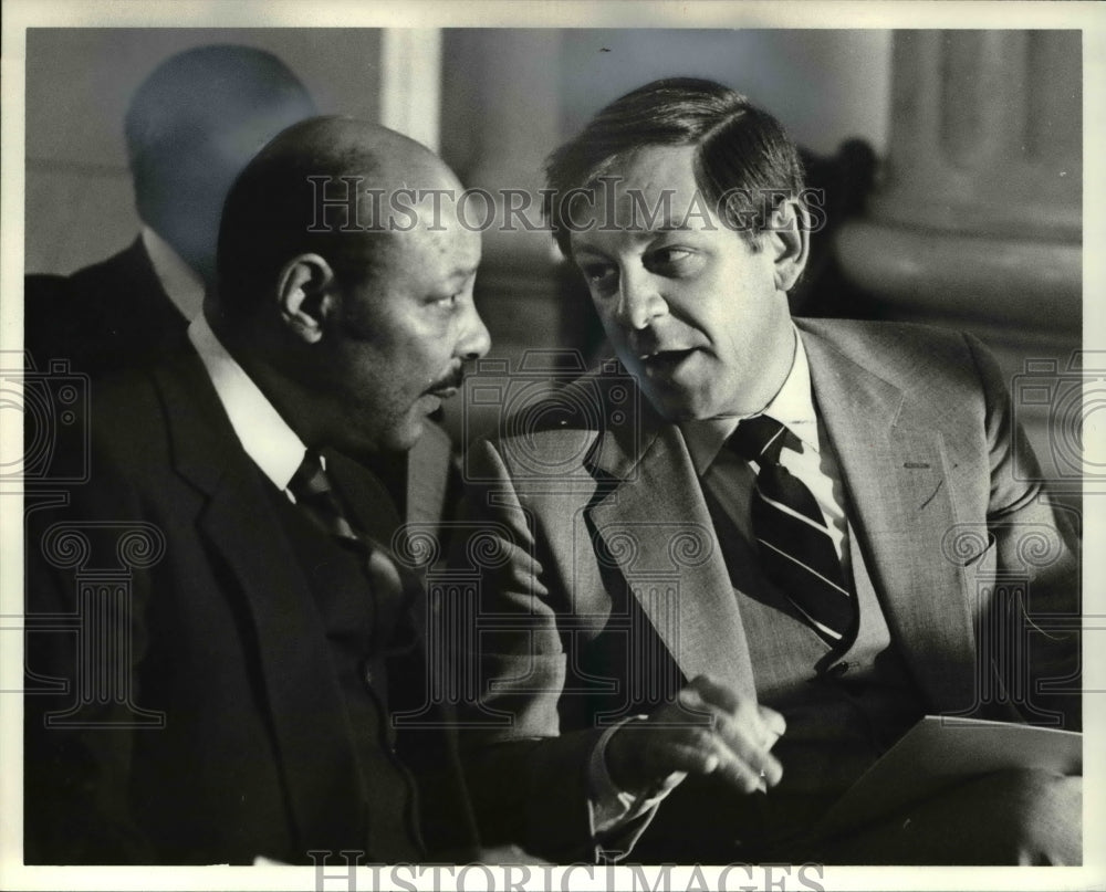
[(811, 366), (806, 358), (803, 338), (794, 325), (795, 356), (783, 386), (761, 411), (748, 416), (726, 416), (702, 421), (685, 421), (680, 424), (684, 440), (691, 453), (696, 474), (702, 476), (713, 464), (722, 445), (737, 429), (743, 418), (766, 414), (775, 419), (815, 452), (821, 451), (818, 422), (814, 412), (814, 396), (811, 390)]

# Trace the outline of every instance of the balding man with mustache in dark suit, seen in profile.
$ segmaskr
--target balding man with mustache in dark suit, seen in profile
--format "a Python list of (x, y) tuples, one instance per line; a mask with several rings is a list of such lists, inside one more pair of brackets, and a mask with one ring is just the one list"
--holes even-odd
[(32, 512), (29, 863), (409, 862), (474, 842), (425, 709), (424, 590), (386, 487), (347, 457), (409, 450), (487, 351), (480, 238), (445, 202), (312, 225), (317, 178), (340, 177), (362, 198), (460, 188), (378, 126), (282, 133), (227, 200), (189, 351), (104, 384), (92, 479)]

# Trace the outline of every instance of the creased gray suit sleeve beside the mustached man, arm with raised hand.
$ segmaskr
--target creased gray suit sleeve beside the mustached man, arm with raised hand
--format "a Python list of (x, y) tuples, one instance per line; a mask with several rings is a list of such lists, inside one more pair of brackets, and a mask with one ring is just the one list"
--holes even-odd
[(554, 601), (568, 597), (541, 556), (533, 514), (493, 445), (472, 447), (479, 482), (462, 507), (451, 571), (477, 580), (456, 618), (461, 754), (483, 841), (552, 861), (592, 861), (588, 762), (601, 728), (561, 733), (567, 654)]

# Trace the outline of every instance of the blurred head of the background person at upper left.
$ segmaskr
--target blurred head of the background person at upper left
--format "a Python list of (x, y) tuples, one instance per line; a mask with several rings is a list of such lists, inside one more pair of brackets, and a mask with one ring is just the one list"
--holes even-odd
[(124, 123), (138, 216), (210, 283), (234, 178), (273, 136), (315, 114), (272, 53), (228, 44), (169, 57), (138, 86)]

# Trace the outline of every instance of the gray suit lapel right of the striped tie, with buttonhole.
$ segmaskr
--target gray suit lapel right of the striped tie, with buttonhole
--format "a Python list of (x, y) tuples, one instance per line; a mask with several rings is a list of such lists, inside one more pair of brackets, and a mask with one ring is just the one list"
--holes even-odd
[(800, 324), (848, 513), (895, 641), (932, 703), (973, 692), (963, 579), (940, 543), (954, 525), (943, 439), (909, 395)]

